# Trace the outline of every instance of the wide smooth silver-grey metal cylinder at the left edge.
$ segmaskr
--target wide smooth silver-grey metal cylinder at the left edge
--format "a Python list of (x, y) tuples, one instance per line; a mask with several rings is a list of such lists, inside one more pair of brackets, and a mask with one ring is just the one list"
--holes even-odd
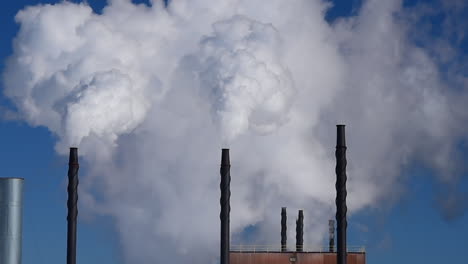
[(22, 178), (0, 178), (0, 263), (21, 264)]

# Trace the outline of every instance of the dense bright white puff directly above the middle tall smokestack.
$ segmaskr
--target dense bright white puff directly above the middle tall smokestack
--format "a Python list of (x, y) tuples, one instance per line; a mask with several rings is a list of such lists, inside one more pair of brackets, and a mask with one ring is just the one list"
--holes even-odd
[(213, 31), (201, 40), (199, 51), (183, 59), (181, 68), (200, 81), (222, 135), (231, 140), (249, 128), (276, 130), (286, 121), (295, 93), (282, 63), (278, 31), (238, 15), (216, 22)]

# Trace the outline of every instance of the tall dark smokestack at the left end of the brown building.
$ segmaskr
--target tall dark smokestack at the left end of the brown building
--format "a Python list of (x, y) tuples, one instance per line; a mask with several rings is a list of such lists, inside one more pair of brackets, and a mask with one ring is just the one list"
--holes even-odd
[(229, 149), (223, 149), (221, 154), (221, 264), (229, 264), (229, 212), (231, 206), (231, 163), (229, 161)]

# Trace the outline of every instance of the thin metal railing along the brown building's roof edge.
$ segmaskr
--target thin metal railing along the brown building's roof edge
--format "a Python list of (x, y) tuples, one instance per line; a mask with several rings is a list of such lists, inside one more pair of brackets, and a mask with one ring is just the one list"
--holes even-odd
[[(281, 245), (231, 245), (230, 251), (233, 252), (281, 252)], [(296, 251), (296, 247), (287, 248), (287, 252)], [(314, 246), (304, 245), (302, 252), (318, 252), (318, 253), (329, 253), (329, 246)], [(336, 252), (336, 247), (334, 251)], [(347, 252), (350, 253), (365, 253), (366, 248), (364, 246), (348, 246)]]

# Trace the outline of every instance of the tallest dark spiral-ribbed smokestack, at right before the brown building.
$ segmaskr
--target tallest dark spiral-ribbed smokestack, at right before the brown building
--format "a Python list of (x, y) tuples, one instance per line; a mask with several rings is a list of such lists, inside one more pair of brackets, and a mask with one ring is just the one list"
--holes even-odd
[(336, 223), (337, 223), (337, 264), (346, 264), (346, 141), (345, 126), (337, 125), (336, 137)]

